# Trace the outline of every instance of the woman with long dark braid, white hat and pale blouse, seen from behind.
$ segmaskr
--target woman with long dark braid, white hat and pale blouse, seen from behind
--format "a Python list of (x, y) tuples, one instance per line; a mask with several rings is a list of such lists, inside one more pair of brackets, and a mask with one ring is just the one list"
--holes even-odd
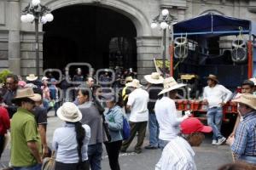
[(66, 102), (58, 109), (57, 116), (65, 125), (57, 128), (53, 137), (55, 170), (89, 170), (87, 150), (90, 127), (79, 122), (82, 119), (79, 108)]

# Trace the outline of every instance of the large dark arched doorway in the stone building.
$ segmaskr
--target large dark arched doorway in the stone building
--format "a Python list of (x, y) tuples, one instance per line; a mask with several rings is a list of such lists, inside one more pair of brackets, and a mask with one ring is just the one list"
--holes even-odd
[(44, 69), (63, 70), (72, 62), (95, 69), (137, 69), (137, 30), (125, 15), (89, 5), (58, 8), (52, 14), (55, 20), (43, 27)]

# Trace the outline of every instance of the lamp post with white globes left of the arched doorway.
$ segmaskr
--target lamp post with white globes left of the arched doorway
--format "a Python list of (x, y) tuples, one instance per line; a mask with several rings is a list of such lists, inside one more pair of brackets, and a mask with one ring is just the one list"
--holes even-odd
[(36, 69), (37, 76), (40, 76), (39, 71), (39, 23), (46, 24), (54, 20), (54, 16), (50, 14), (50, 9), (42, 5), (40, 0), (32, 0), (26, 8), (22, 10), (22, 15), (20, 17), (21, 22), (33, 23), (35, 22), (35, 36), (36, 36)]

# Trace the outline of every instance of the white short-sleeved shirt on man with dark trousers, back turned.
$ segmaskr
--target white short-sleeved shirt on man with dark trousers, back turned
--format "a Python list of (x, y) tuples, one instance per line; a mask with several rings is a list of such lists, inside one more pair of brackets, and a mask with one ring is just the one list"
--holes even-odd
[(127, 105), (131, 105), (131, 122), (148, 121), (148, 100), (148, 92), (142, 88), (136, 88), (129, 94)]

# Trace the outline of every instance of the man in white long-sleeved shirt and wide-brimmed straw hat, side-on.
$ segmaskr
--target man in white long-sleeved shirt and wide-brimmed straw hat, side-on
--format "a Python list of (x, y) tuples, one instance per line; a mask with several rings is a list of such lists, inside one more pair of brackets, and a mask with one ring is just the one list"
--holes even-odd
[[(173, 77), (164, 80), (164, 89), (159, 94), (159, 99), (154, 105), (154, 112), (159, 123), (159, 145), (163, 149), (179, 133), (179, 124), (188, 116), (177, 117), (175, 101), (177, 97), (177, 88), (185, 84), (178, 84)], [(164, 96), (168, 95), (168, 97)]]

